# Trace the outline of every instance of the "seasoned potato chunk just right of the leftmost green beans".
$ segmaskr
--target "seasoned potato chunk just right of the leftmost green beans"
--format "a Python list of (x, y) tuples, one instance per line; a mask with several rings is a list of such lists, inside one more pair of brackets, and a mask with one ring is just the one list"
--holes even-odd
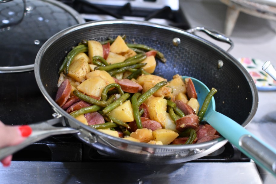
[(85, 75), (90, 72), (89, 64), (84, 57), (73, 59), (71, 65), (68, 68), (67, 76), (72, 77), (78, 82), (82, 82), (86, 79)]

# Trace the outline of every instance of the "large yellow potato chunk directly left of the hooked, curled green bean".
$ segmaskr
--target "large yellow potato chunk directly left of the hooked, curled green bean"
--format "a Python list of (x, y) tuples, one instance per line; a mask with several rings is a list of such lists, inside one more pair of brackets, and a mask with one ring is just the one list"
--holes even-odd
[(106, 80), (102, 77), (91, 77), (78, 85), (77, 90), (87, 95), (100, 97), (104, 87), (106, 87)]

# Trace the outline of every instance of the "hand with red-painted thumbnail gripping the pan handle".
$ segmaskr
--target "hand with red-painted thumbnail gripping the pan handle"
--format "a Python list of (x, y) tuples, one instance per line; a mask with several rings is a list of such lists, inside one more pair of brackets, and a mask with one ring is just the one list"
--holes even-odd
[[(8, 126), (0, 121), (0, 148), (6, 146), (14, 146), (22, 143), (29, 135), (31, 135), (31, 127), (28, 125)], [(1, 160), (4, 167), (11, 164), (12, 155)]]

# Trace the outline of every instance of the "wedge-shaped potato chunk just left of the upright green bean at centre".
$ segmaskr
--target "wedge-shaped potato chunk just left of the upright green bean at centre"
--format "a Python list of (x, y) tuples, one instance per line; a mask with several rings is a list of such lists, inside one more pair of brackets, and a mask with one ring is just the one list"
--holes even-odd
[(108, 115), (121, 120), (124, 123), (134, 121), (133, 109), (130, 100), (125, 101), (122, 105), (119, 105), (110, 111)]

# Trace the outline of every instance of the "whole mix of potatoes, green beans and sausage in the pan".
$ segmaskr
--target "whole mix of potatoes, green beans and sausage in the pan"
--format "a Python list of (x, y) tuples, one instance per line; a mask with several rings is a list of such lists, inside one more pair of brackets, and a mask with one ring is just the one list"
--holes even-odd
[(217, 134), (209, 124), (199, 126), (192, 80), (179, 74), (171, 80), (155, 75), (155, 55), (163, 62), (163, 54), (127, 44), (124, 38), (89, 40), (74, 47), (80, 53), (70, 57), (70, 51), (60, 67), (56, 102), (81, 123), (133, 142), (191, 144)]

